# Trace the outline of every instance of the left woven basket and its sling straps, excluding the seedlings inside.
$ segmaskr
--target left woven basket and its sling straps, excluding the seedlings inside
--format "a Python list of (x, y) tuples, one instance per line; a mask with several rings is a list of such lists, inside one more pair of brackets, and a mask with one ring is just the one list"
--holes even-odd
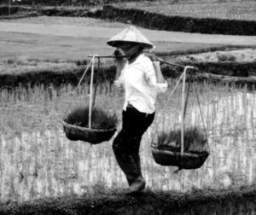
[[(75, 125), (75, 124), (71, 123), (70, 120), (68, 120), (69, 116), (71, 116), (72, 114), (76, 114), (76, 112), (79, 111), (79, 110), (74, 110), (72, 113), (69, 113), (67, 115), (67, 110), (70, 108), (70, 103), (69, 103), (69, 106), (67, 107), (67, 109), (64, 113), (63, 119), (62, 119), (62, 125), (63, 125), (63, 130), (65, 132), (65, 135), (69, 140), (72, 140), (72, 141), (84, 141), (84, 142), (90, 142), (91, 144), (98, 144), (101, 142), (105, 142), (105, 141), (110, 140), (111, 137), (113, 137), (113, 134), (115, 133), (116, 128), (117, 128), (116, 124), (109, 129), (92, 128), (92, 113), (94, 111), (94, 106), (95, 106), (96, 89), (99, 84), (99, 82), (97, 81), (95, 84), (94, 92), (93, 92), (95, 58), (96, 58), (96, 55), (92, 55), (91, 61), (87, 65), (83, 76), (79, 80), (79, 84), (77, 85), (76, 89), (74, 90), (75, 92), (77, 92), (79, 90), (79, 86), (82, 83), (82, 80), (84, 79), (85, 74), (87, 73), (87, 71), (89, 70), (89, 68), (91, 66), (88, 127)], [(99, 73), (99, 68), (100, 68), (100, 58), (98, 58), (97, 75)], [(104, 80), (107, 82), (107, 78), (106, 78), (104, 71), (102, 71), (102, 73), (103, 73)], [(96, 80), (97, 80), (97, 77), (96, 77)], [(74, 95), (74, 93), (72, 94), (72, 96), (73, 95)], [(112, 97), (110, 100), (111, 100), (111, 104), (113, 106), (114, 115), (116, 116), (116, 109), (114, 108)], [(102, 113), (103, 113), (103, 111), (102, 111)], [(109, 119), (110, 118), (111, 118), (111, 116), (109, 116)]]

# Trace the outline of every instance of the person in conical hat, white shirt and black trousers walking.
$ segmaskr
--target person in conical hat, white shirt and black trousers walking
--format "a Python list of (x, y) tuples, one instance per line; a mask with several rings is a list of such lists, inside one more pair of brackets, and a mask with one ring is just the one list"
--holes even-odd
[[(152, 49), (154, 45), (134, 26), (125, 28), (107, 44), (115, 47), (115, 84), (125, 89), (122, 129), (113, 140), (113, 153), (129, 183), (127, 194), (137, 193), (146, 185), (141, 171), (140, 142), (154, 120), (157, 93), (165, 92), (167, 83), (160, 62), (151, 61), (143, 53), (143, 49)], [(125, 55), (126, 60), (120, 55)]]

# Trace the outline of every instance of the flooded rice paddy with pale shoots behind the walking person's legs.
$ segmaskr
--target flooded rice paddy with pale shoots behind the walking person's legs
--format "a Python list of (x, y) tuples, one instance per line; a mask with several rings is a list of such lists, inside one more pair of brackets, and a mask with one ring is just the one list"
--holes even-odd
[[(160, 114), (170, 94), (168, 90), (160, 96), (154, 124), (142, 141), (143, 176), (152, 190), (186, 192), (235, 188), (256, 182), (255, 92), (224, 85), (198, 84), (197, 87), (211, 154), (197, 170), (173, 173), (176, 167), (154, 163), (150, 151), (154, 134), (177, 128), (181, 120), (180, 91)], [(62, 131), (65, 110), (88, 102), (88, 88), (83, 86), (73, 97), (71, 86), (59, 90), (36, 87), (0, 92), (1, 200), (93, 194), (101, 189), (127, 187), (114, 160), (112, 140), (91, 146), (88, 142), (69, 141)], [(122, 91), (109, 92), (102, 85), (99, 95), (96, 104), (116, 111), (120, 119)], [(200, 109), (193, 95), (189, 97), (185, 125), (202, 127)]]

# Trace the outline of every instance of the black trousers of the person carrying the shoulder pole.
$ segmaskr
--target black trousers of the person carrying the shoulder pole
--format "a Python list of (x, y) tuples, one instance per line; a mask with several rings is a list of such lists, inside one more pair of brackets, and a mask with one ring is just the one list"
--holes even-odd
[(133, 107), (127, 107), (123, 111), (122, 130), (113, 140), (113, 153), (129, 185), (137, 177), (143, 177), (139, 156), (140, 142), (153, 120), (154, 113), (141, 113)]

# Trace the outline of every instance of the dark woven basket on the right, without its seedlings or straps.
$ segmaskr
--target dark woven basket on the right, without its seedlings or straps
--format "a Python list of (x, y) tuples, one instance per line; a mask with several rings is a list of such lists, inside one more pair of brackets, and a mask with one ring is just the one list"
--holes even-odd
[(197, 169), (207, 160), (207, 151), (172, 152), (159, 148), (152, 148), (154, 161), (161, 166), (177, 166), (179, 169)]

